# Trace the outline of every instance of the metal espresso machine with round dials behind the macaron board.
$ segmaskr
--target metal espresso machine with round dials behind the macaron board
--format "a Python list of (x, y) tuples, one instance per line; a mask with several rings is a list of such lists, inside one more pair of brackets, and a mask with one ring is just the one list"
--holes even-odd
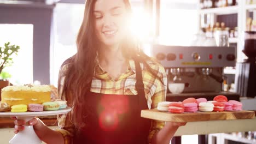
[(224, 68), (236, 65), (235, 47), (153, 45), (152, 53), (165, 67), (168, 85), (185, 85), (182, 93), (167, 92), (167, 101), (182, 101), (188, 97), (212, 100), (220, 94), (235, 95), (232, 99), (239, 100), (237, 93), (223, 91)]

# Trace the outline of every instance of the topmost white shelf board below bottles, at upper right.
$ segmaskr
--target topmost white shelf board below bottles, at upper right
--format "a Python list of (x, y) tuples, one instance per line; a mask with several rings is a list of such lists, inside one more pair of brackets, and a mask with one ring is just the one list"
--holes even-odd
[(223, 8), (211, 8), (211, 9), (202, 9), (200, 14), (217, 14), (217, 15), (227, 15), (227, 14), (237, 14), (238, 6), (230, 6)]

